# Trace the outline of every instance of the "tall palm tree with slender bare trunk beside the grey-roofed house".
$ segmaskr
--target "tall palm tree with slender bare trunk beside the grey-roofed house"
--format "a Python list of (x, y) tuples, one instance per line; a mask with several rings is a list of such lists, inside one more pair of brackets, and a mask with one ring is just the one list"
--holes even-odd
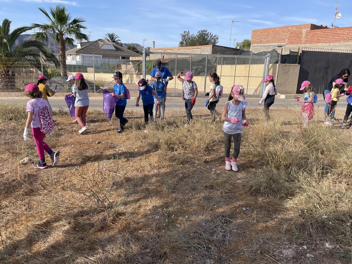
[(82, 23), (85, 19), (78, 17), (71, 20), (71, 14), (64, 5), (56, 5), (55, 9), (50, 7), (50, 15), (44, 8), (38, 8), (46, 16), (48, 24), (32, 24), (33, 28), (38, 28), (40, 32), (36, 33), (37, 40), (48, 41), (48, 34), (53, 34), (53, 39), (59, 44), (59, 58), (61, 64), (61, 76), (67, 76), (66, 67), (66, 44), (74, 45), (74, 39), (89, 40), (89, 36), (82, 33), (87, 29)]

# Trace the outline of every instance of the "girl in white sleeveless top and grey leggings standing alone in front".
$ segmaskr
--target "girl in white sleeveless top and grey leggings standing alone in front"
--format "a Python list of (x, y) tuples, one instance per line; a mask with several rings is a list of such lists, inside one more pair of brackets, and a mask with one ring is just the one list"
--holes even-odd
[[(248, 126), (245, 113), (247, 102), (244, 102), (245, 99), (243, 86), (235, 85), (232, 87), (231, 94), (222, 112), (221, 119), (225, 121), (222, 131), (224, 131), (226, 170), (238, 171), (237, 157), (240, 153), (242, 127)], [(231, 138), (234, 148), (232, 161), (230, 162)]]

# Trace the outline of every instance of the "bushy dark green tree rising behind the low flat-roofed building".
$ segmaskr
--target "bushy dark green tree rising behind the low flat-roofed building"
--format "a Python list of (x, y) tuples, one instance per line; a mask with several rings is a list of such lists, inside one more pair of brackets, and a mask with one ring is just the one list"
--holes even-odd
[(180, 36), (179, 47), (216, 45), (219, 42), (219, 36), (212, 34), (207, 29), (199, 30), (196, 35), (191, 34), (189, 31), (183, 31)]

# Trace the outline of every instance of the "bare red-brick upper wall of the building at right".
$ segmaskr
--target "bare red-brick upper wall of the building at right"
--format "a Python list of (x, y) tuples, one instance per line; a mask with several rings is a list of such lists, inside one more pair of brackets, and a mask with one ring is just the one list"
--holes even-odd
[(283, 46), (285, 50), (302, 47), (352, 50), (352, 27), (304, 24), (252, 30), (253, 52), (269, 51), (277, 46)]

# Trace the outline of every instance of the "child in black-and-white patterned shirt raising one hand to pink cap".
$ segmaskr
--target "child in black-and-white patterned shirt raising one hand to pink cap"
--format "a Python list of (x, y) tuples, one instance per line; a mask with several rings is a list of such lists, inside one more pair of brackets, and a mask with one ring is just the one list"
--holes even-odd
[(193, 78), (193, 73), (191, 71), (187, 71), (186, 75), (184, 76), (184, 79), (181, 78), (181, 73), (177, 74), (176, 78), (180, 82), (182, 82), (182, 99), (184, 100), (184, 107), (186, 108), (186, 115), (187, 115), (187, 123), (184, 125), (185, 127), (190, 124), (190, 122), (193, 120), (193, 115), (192, 115), (192, 108), (194, 104), (196, 103), (196, 98), (198, 95), (198, 88), (197, 84), (192, 81)]

